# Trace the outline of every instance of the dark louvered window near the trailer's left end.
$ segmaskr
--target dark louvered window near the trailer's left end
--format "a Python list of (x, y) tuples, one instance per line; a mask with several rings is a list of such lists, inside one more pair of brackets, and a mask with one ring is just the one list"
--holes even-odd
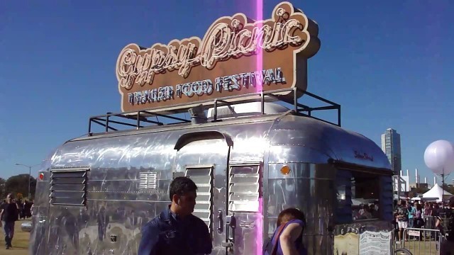
[(89, 169), (68, 168), (50, 170), (51, 205), (87, 204), (87, 182)]

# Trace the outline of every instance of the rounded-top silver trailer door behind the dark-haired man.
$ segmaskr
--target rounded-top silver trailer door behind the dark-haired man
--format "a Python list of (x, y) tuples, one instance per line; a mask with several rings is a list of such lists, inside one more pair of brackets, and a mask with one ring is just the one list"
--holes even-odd
[(213, 242), (211, 254), (226, 254), (226, 212), (228, 211), (228, 155), (231, 140), (220, 132), (182, 135), (175, 149), (173, 177), (189, 176), (197, 185), (193, 215), (204, 220)]

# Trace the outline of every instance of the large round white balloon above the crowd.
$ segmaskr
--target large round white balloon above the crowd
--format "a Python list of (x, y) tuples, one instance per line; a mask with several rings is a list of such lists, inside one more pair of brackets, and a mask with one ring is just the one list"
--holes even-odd
[(450, 174), (454, 170), (454, 144), (445, 140), (432, 142), (424, 152), (424, 162), (435, 174)]

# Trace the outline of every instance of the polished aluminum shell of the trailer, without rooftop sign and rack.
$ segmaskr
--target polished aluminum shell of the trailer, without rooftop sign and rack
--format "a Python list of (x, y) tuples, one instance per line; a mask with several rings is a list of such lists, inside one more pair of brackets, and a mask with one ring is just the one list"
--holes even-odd
[[(309, 254), (333, 254), (341, 226), (338, 169), (379, 171), (384, 183), (392, 182), (389, 161), (375, 142), (290, 111), (78, 138), (45, 164), (30, 254), (136, 254), (140, 228), (170, 204), (169, 184), (179, 175), (199, 186), (194, 215), (209, 225), (212, 254), (261, 254), (277, 215), (291, 206), (306, 214)], [(282, 174), (282, 166), (290, 173)], [(66, 193), (65, 183), (72, 183)], [(390, 199), (380, 200), (384, 221), (362, 226), (387, 229), (389, 187), (383, 194)]]

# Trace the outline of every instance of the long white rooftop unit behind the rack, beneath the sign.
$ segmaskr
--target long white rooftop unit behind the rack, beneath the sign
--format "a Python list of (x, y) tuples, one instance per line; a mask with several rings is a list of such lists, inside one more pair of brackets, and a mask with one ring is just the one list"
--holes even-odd
[[(230, 106), (218, 106), (216, 118), (236, 118), (241, 116), (253, 116), (260, 115), (262, 113), (262, 106), (260, 102), (252, 103), (238, 103)], [(285, 113), (289, 111), (289, 108), (281, 106), (277, 103), (265, 102), (265, 114), (273, 113)], [(208, 109), (208, 118), (214, 118), (214, 108)]]

